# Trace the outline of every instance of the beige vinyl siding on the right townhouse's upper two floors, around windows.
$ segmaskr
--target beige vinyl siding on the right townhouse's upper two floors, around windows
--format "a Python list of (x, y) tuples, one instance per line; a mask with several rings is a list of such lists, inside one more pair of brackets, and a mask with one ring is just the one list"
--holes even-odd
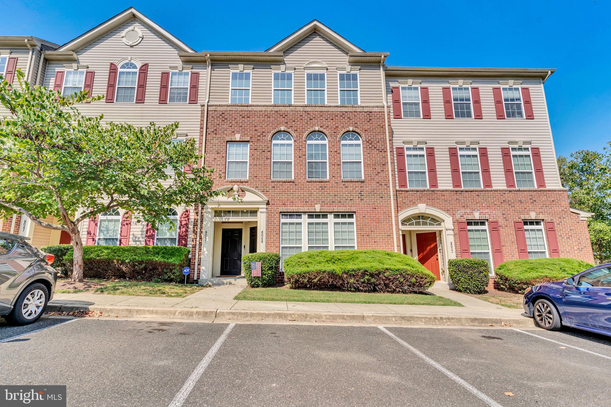
[[(422, 79), (422, 87), (428, 87), (431, 104), (431, 119), (392, 118), (391, 87), (400, 86), (398, 80)], [(452, 78), (455, 79), (455, 78)], [(505, 188), (505, 173), (500, 153), (501, 147), (508, 147), (510, 140), (532, 142), (532, 147), (541, 149), (543, 174), (547, 188), (560, 188), (554, 146), (547, 121), (547, 107), (544, 101), (543, 86), (539, 79), (524, 79), (521, 87), (530, 88), (534, 120), (505, 119), (497, 120), (494, 109), (492, 88), (500, 87), (499, 79), (472, 80), (472, 87), (480, 88), (483, 119), (445, 119), (442, 87), (450, 87), (448, 78), (387, 77), (387, 102), (390, 107), (390, 123), (393, 129), (393, 145), (403, 146), (403, 141), (426, 140), (426, 146), (435, 148), (437, 180), (439, 188), (452, 188), (448, 147), (456, 147), (456, 141), (477, 141), (478, 146), (488, 148), (488, 158), (493, 188)], [(519, 78), (514, 78), (518, 80)], [(393, 151), (394, 154), (394, 151)], [(395, 163), (396, 165), (396, 163)]]

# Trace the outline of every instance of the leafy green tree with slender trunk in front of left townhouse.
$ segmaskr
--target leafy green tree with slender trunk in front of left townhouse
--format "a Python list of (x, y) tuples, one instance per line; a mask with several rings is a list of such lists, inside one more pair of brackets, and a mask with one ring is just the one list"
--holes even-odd
[[(211, 190), (214, 170), (196, 165), (195, 141), (172, 142), (178, 123), (103, 123), (102, 115), (85, 117), (76, 109), (103, 96), (62, 96), (24, 81), (20, 70), (16, 79), (18, 87), (0, 76), (0, 103), (10, 113), (0, 123), (0, 216), (20, 213), (68, 232), (73, 281), (82, 281), (84, 220), (122, 207), (155, 227), (168, 220), (171, 206), (221, 195)], [(49, 215), (59, 224), (45, 222)]]

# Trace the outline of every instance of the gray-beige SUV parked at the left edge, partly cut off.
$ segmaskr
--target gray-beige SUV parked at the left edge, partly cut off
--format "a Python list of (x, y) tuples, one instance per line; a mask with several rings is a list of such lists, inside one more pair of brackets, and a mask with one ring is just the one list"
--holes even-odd
[(46, 254), (27, 237), (0, 232), (0, 315), (9, 323), (27, 325), (45, 312), (53, 298), (57, 272)]

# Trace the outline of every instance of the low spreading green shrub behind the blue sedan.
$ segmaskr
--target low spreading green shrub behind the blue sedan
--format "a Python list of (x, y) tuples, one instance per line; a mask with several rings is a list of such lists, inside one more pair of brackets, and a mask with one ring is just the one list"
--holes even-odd
[(569, 258), (521, 259), (504, 262), (494, 273), (500, 290), (523, 294), (530, 286), (560, 281), (590, 267), (588, 262)]

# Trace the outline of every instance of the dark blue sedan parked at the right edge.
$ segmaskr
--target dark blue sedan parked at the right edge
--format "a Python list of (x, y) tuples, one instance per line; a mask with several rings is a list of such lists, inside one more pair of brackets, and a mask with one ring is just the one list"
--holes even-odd
[(564, 325), (611, 336), (611, 263), (529, 287), (523, 306), (544, 330)]

